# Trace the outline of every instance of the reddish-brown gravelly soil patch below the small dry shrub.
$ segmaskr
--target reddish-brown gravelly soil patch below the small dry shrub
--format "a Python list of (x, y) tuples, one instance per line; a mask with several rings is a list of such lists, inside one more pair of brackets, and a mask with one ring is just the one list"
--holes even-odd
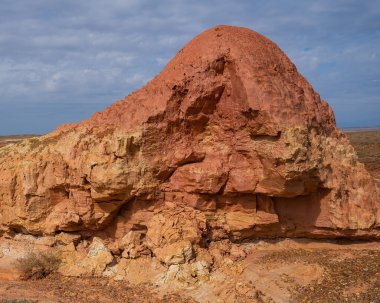
[[(96, 278), (65, 278), (51, 276), (43, 280), (2, 282), (0, 296), (3, 302), (195, 302), (190, 298), (170, 294), (158, 296), (148, 286), (130, 287), (125, 282)], [(24, 300), (24, 301), (22, 301)]]

